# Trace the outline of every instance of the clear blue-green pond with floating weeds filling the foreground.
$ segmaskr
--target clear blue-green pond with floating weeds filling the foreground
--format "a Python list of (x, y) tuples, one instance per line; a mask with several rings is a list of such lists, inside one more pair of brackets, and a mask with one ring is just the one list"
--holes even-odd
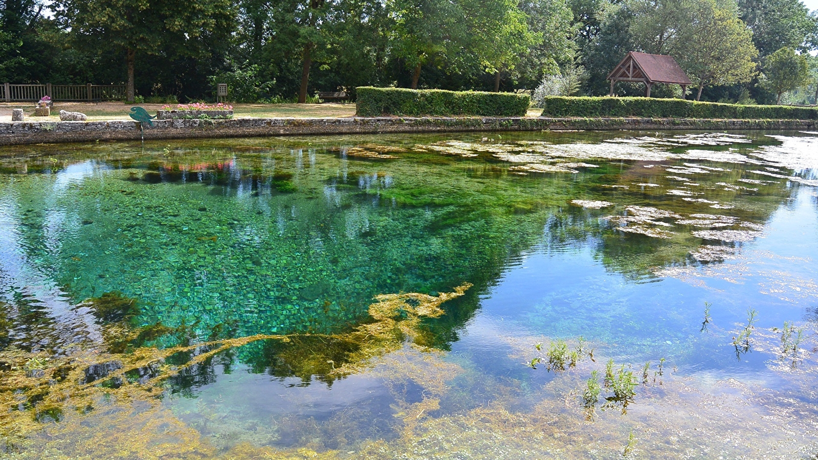
[(0, 150), (2, 458), (811, 458), (818, 132)]

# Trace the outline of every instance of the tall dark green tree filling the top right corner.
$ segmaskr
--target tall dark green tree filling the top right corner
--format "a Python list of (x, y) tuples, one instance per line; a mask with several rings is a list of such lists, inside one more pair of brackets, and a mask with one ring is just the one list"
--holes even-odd
[(753, 30), (761, 56), (781, 47), (807, 51), (816, 29), (816, 16), (800, 0), (739, 0), (739, 17)]

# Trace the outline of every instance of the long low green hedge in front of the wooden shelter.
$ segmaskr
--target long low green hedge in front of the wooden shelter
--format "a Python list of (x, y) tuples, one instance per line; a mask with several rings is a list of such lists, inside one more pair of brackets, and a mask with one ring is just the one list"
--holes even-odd
[(736, 105), (649, 97), (546, 96), (543, 117), (656, 117), (734, 119), (818, 119), (818, 109), (785, 105)]

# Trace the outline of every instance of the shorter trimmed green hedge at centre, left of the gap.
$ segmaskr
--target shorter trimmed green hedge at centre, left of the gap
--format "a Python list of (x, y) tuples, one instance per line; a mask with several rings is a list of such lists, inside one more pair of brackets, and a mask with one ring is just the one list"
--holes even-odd
[(413, 90), (406, 88), (358, 87), (356, 114), (380, 115), (479, 115), (524, 117), (531, 98), (510, 92)]

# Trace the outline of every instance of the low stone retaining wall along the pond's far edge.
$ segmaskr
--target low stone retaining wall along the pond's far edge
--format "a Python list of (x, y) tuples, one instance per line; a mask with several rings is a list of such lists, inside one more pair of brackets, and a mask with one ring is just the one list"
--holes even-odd
[(233, 118), (153, 120), (140, 132), (129, 120), (0, 123), (0, 145), (87, 141), (138, 141), (215, 137), (393, 132), (480, 132), (632, 129), (815, 129), (816, 120), (724, 120), (701, 118)]

